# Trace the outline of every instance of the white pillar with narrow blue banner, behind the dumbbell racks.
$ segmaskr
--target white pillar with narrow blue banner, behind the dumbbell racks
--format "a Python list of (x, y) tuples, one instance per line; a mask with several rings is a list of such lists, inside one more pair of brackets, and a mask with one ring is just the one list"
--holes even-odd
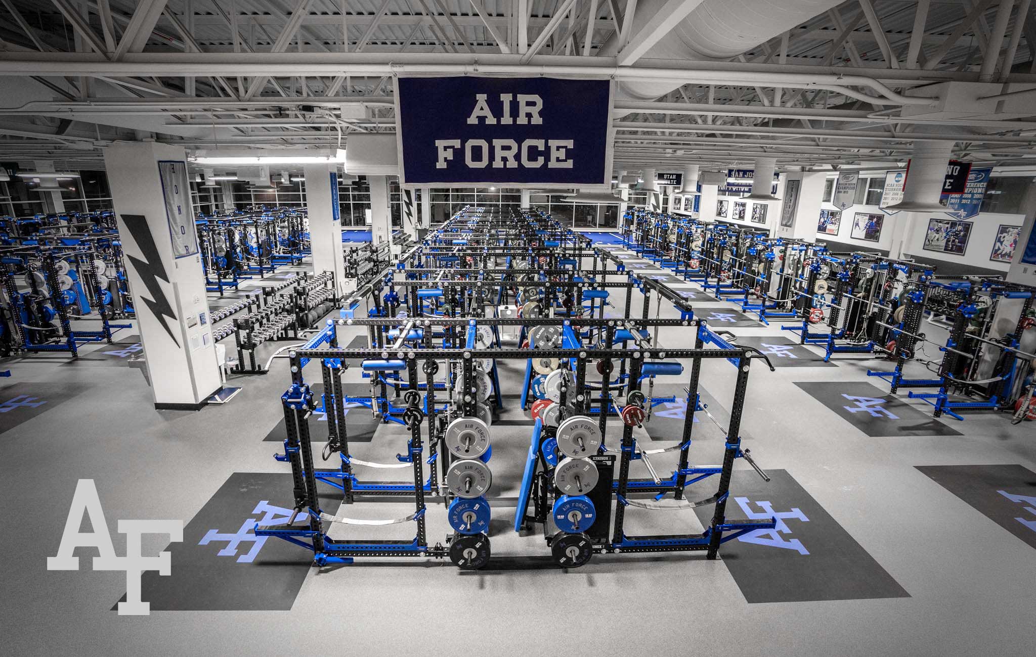
[(341, 206), (338, 203), (338, 167), (306, 165), (306, 208), (310, 222), (313, 272), (335, 274), (339, 294), (345, 290), (345, 256), (342, 252)]

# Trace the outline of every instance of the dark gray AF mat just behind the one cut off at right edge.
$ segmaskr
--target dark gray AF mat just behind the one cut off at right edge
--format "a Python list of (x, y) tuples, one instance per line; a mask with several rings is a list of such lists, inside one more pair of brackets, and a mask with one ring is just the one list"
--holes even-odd
[(908, 406), (896, 395), (865, 382), (799, 383), (814, 399), (858, 429), (879, 436), (961, 436), (930, 415)]

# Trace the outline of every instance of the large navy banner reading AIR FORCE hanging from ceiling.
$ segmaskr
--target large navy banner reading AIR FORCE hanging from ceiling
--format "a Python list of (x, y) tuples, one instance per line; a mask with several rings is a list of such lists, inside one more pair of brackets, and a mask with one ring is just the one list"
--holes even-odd
[(612, 81), (397, 77), (400, 184), (611, 183)]

